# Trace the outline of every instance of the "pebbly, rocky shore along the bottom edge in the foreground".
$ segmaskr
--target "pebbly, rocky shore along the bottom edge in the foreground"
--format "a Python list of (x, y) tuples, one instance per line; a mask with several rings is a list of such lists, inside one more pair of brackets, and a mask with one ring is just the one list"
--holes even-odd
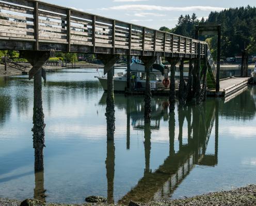
[[(21, 204), (22, 203), (22, 204)], [(1, 206), (85, 206), (85, 205), (100, 205), (107, 206), (111, 204), (106, 203), (81, 203), (81, 204), (61, 204), (61, 203), (43, 203), (38, 200), (11, 200), (6, 198), (0, 198)], [(113, 205), (113, 204), (112, 204)], [(159, 202), (148, 202), (148, 203), (135, 203), (130, 202), (130, 206), (208, 206), (208, 205), (227, 205), (227, 206), (238, 206), (238, 205), (256, 205), (256, 185), (248, 185), (241, 188), (236, 188), (231, 191), (222, 191), (209, 193), (205, 195), (199, 195), (185, 199), (174, 199), (169, 201)]]

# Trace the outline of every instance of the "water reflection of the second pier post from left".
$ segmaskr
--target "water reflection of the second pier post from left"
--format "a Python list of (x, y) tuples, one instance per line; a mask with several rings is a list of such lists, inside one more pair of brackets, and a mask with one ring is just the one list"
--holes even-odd
[(107, 140), (106, 176), (107, 176), (107, 203), (114, 204), (114, 177), (115, 177), (114, 138), (113, 140)]

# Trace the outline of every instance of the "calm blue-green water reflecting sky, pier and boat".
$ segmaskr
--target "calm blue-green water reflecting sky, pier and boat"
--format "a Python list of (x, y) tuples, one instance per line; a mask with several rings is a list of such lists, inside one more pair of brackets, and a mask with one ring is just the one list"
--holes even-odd
[[(168, 114), (166, 97), (115, 95), (115, 143), (95, 70), (47, 75), (44, 173), (34, 173), (33, 81), (0, 78), (0, 197), (129, 203), (183, 198), (256, 183), (256, 88)], [(107, 161), (106, 161), (107, 160)]]

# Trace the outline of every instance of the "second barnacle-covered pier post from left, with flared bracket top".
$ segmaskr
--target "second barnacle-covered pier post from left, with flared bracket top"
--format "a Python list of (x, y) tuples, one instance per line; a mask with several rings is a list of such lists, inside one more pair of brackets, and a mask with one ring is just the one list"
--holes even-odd
[(114, 101), (114, 64), (120, 59), (120, 55), (98, 54), (98, 59), (104, 64), (104, 74), (107, 74), (107, 99), (106, 99), (106, 119), (107, 119), (107, 140), (114, 140), (115, 132), (115, 101)]

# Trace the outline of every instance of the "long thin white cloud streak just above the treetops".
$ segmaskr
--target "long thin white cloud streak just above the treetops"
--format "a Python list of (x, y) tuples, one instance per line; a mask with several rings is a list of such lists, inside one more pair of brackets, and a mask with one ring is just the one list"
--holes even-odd
[(130, 10), (130, 11), (221, 11), (225, 8), (210, 6), (190, 6), (190, 7), (164, 7), (155, 5), (121, 5), (109, 8), (101, 8), (101, 10)]

